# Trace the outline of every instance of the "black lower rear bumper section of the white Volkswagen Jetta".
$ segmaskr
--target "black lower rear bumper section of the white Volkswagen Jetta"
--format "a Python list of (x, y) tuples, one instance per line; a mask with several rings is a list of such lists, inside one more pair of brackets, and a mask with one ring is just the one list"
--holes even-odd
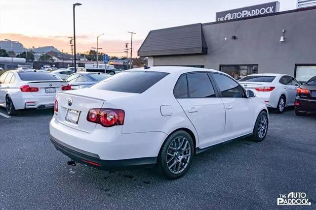
[(57, 140), (53, 136), (50, 136), (50, 141), (57, 150), (67, 155), (72, 160), (83, 165), (88, 165), (103, 170), (149, 168), (155, 166), (157, 162), (157, 157), (102, 160), (97, 154), (74, 148)]

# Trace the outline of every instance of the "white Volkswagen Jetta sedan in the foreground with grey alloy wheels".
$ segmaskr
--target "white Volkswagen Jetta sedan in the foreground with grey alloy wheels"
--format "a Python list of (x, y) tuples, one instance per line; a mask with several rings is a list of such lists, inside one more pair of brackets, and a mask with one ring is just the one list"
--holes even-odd
[(266, 104), (225, 73), (192, 67), (123, 71), (90, 88), (58, 92), (50, 121), (57, 150), (105, 170), (158, 164), (183, 176), (194, 154), (230, 140), (262, 141)]

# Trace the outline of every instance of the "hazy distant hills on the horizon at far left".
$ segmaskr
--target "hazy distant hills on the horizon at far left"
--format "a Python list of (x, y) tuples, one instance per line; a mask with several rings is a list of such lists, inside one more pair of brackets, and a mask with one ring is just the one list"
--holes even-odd
[[(11, 41), (9, 39), (0, 40), (0, 48), (6, 51), (11, 51), (11, 49), (13, 49), (16, 54), (20, 54), (26, 51), (26, 48), (23, 46), (23, 44), (18, 41)], [(28, 50), (33, 50), (36, 53), (47, 53), (51, 51), (61, 53), (57, 48), (53, 46), (44, 46)]]

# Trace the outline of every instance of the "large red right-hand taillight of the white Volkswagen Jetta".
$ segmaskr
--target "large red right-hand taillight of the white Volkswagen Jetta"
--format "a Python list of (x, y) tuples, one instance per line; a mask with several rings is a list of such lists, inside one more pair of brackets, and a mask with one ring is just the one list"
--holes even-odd
[(101, 124), (104, 127), (124, 124), (125, 112), (121, 109), (90, 109), (87, 115), (89, 122)]

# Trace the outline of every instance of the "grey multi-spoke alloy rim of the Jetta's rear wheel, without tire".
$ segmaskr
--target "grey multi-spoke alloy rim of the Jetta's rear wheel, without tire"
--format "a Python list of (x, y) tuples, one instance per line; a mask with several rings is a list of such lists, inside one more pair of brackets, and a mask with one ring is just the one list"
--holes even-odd
[(191, 145), (189, 140), (184, 137), (176, 137), (168, 147), (166, 164), (169, 171), (173, 174), (183, 172), (189, 165), (191, 159)]

